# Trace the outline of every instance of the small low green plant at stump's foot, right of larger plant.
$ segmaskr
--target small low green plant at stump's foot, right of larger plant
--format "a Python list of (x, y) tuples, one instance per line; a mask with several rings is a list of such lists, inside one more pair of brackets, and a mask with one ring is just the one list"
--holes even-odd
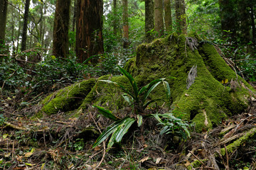
[[(154, 118), (159, 121), (160, 125), (164, 125), (164, 128), (161, 129), (160, 135), (164, 133), (169, 134), (172, 133), (174, 135), (178, 135), (183, 137), (186, 140), (187, 137), (190, 137), (190, 132), (188, 131), (188, 123), (181, 120), (180, 118), (176, 118), (172, 113), (164, 113), (164, 114), (153, 114)], [(164, 118), (162, 120), (161, 118)]]

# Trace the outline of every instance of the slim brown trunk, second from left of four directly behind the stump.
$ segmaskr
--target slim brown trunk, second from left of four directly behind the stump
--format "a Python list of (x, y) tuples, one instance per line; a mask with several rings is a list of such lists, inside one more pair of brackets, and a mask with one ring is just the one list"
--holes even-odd
[(164, 35), (163, 0), (154, 0), (154, 23), (158, 37)]

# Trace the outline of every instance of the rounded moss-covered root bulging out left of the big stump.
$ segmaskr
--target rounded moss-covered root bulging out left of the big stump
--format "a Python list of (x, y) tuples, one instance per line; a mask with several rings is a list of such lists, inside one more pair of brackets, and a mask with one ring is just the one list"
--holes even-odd
[(42, 111), (47, 115), (58, 113), (58, 111), (73, 111), (81, 105), (95, 84), (96, 79), (88, 79), (60, 89), (41, 102), (44, 105)]

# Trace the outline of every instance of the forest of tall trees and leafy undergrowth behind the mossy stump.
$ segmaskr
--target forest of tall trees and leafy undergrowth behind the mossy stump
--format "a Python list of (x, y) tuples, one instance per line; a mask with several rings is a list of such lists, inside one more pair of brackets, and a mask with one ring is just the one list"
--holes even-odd
[(255, 0), (87, 2), (0, 0), (0, 123), (76, 81), (121, 74), (138, 45), (171, 33), (198, 34), (256, 82)]

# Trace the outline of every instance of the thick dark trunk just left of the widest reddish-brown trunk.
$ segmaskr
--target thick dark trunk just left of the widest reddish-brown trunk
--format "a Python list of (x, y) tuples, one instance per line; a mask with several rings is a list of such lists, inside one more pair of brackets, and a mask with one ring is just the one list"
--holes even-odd
[(53, 24), (53, 55), (67, 57), (70, 0), (57, 0)]

